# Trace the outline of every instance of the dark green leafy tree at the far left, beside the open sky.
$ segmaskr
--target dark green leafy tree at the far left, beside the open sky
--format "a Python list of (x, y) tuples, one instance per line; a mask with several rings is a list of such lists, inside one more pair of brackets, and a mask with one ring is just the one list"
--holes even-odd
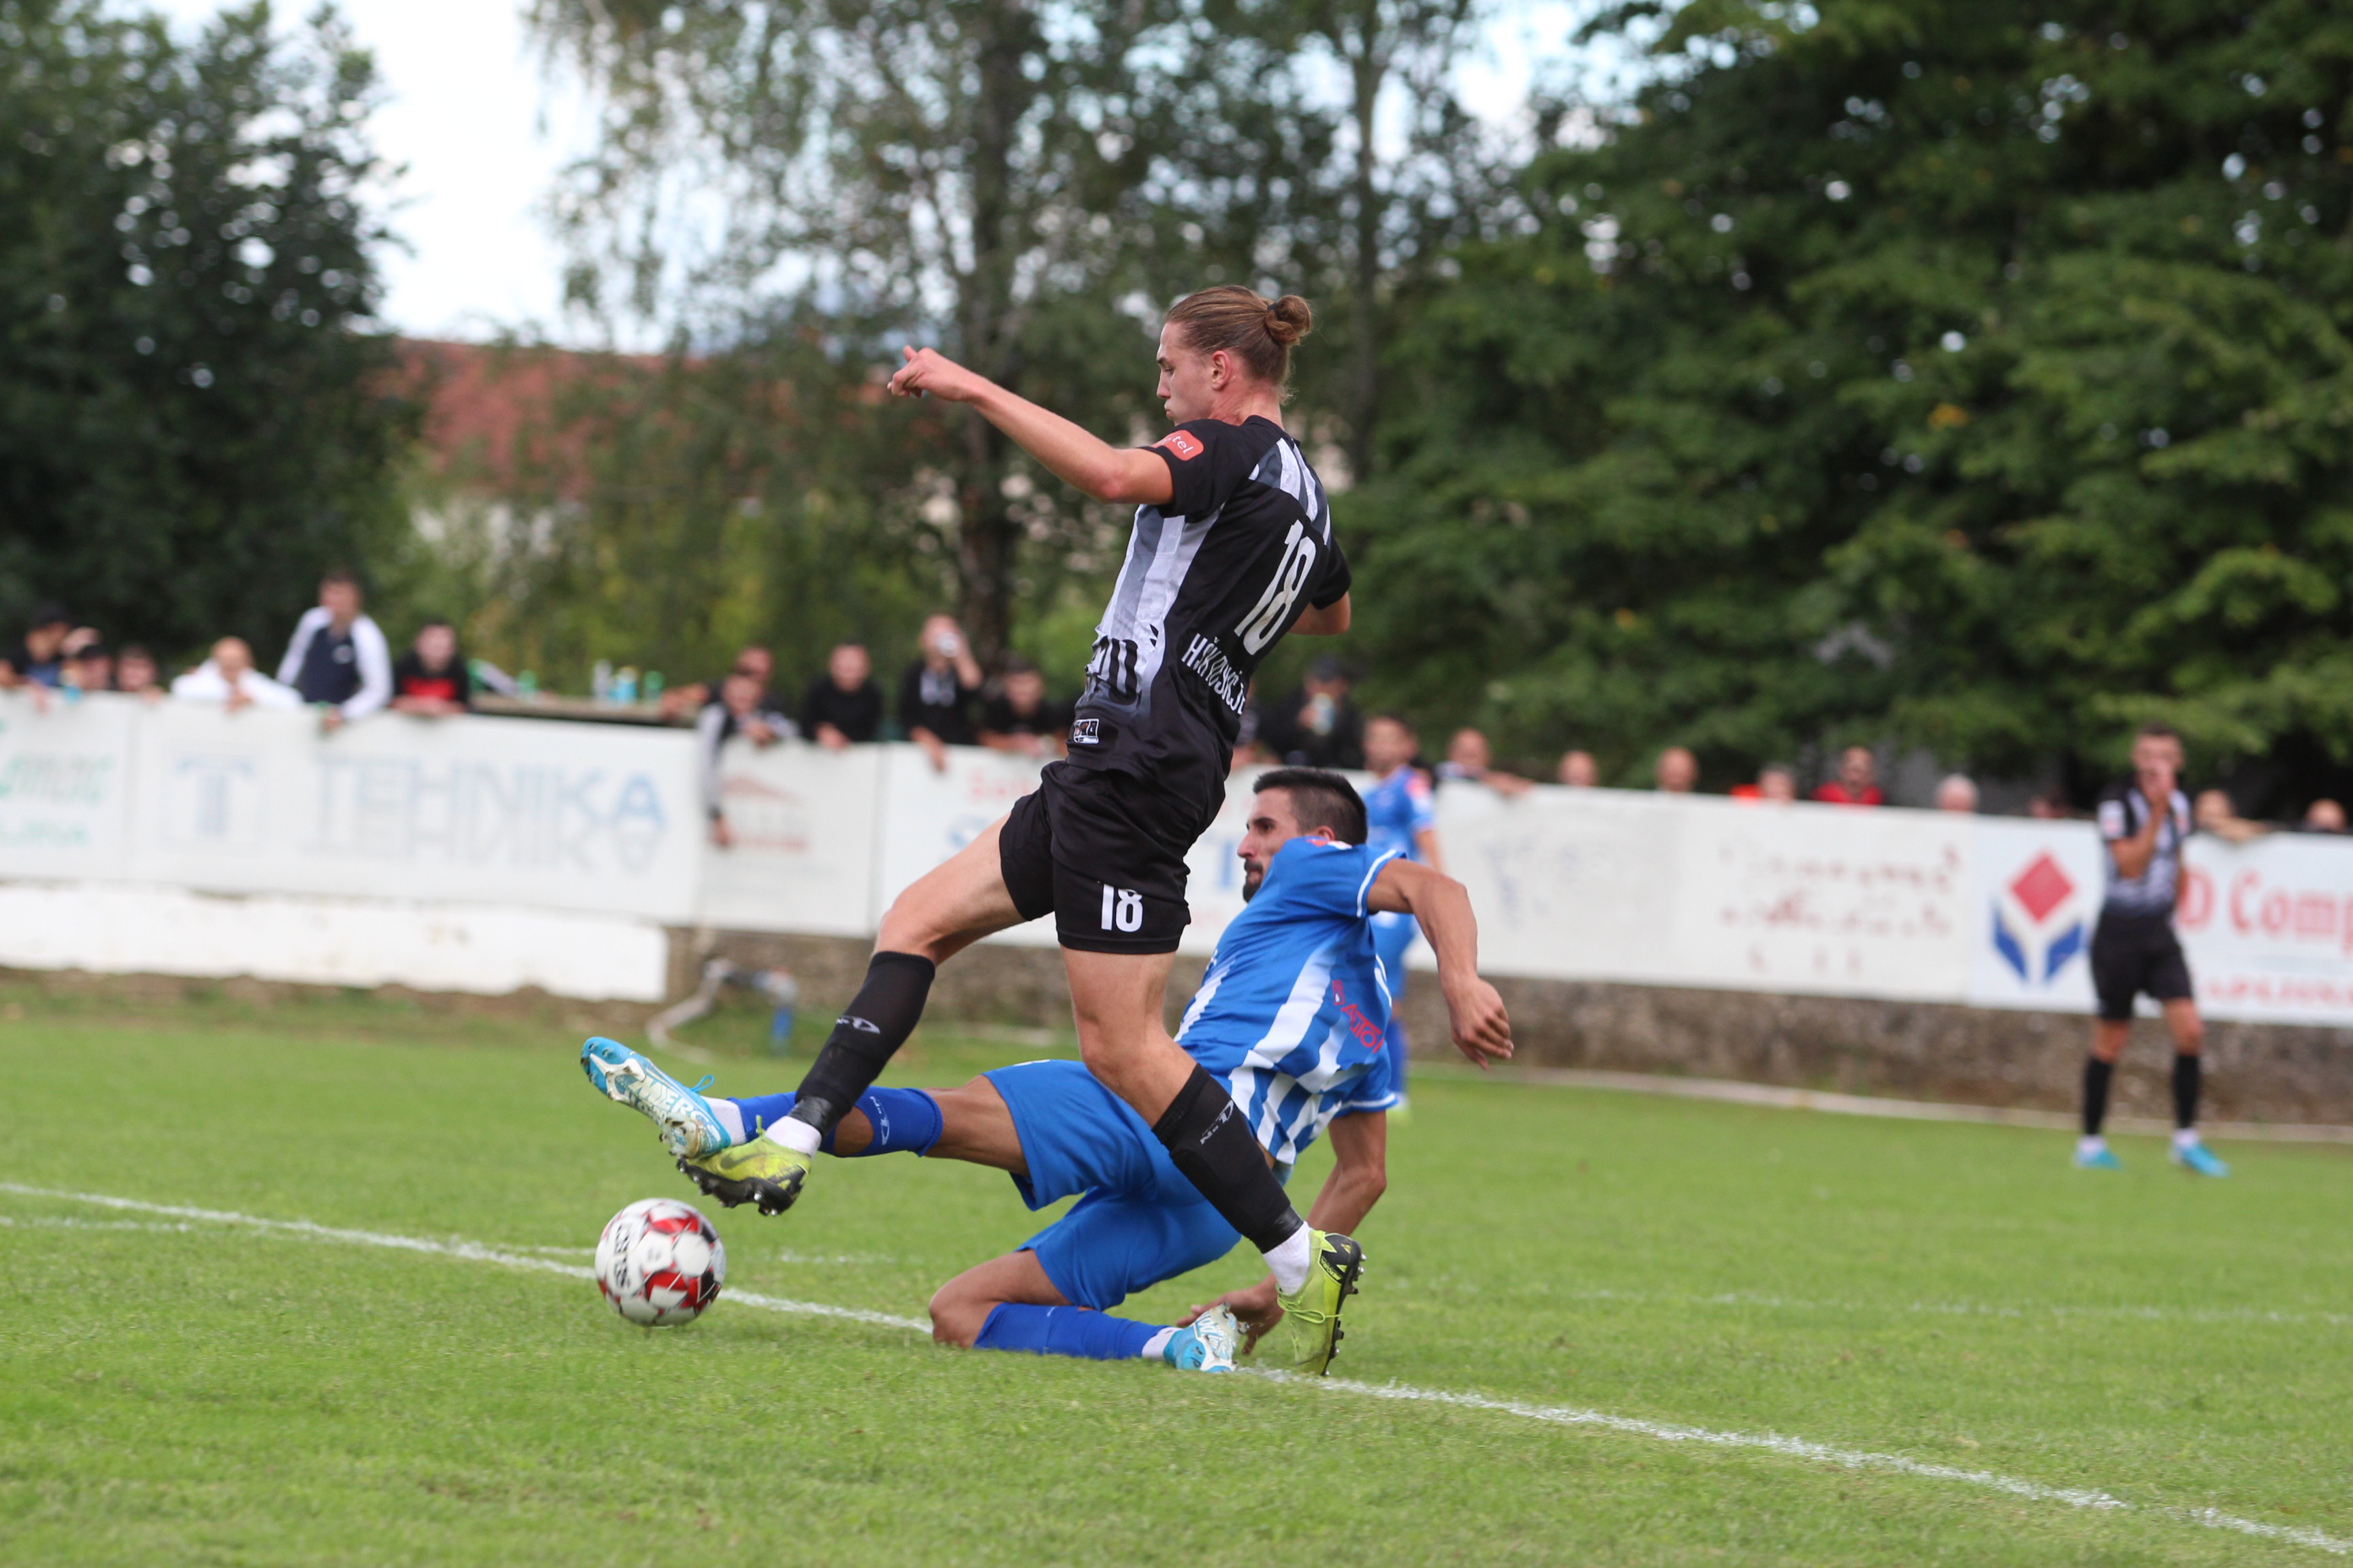
[(327, 9), (181, 45), (0, 0), (0, 614), (280, 637), (320, 569), (402, 527), (369, 59)]

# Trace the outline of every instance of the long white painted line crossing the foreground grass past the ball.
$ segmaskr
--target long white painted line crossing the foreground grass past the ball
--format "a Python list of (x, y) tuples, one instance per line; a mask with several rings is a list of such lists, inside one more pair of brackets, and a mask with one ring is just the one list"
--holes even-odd
[[(188, 1208), (181, 1204), (146, 1204), (139, 1199), (120, 1199), (101, 1192), (66, 1192), (56, 1187), (26, 1187), (21, 1182), (0, 1182), (0, 1192), (14, 1192), (19, 1197), (59, 1199), (68, 1204), (94, 1204), (101, 1208), (115, 1208), (127, 1213), (153, 1213), (174, 1220), (202, 1220), (212, 1225), (245, 1225), (266, 1234), (296, 1237), (304, 1241), (341, 1241), (348, 1246), (386, 1246), (407, 1253), (426, 1253), (435, 1258), (461, 1258), (466, 1262), (496, 1262), (511, 1269), (536, 1269), (544, 1274), (562, 1274), (567, 1279), (588, 1279), (588, 1269), (572, 1262), (558, 1262), (553, 1258), (534, 1258), (520, 1251), (506, 1251), (494, 1246), (480, 1246), (475, 1241), (435, 1241), (431, 1237), (402, 1237), (393, 1232), (376, 1229), (341, 1229), (332, 1225), (313, 1225), (311, 1220), (268, 1220), (261, 1215), (235, 1213), (228, 1208)], [(859, 1307), (828, 1307), (824, 1302), (795, 1302), (781, 1295), (755, 1295), (748, 1291), (727, 1291), (722, 1300), (741, 1302), (746, 1307), (760, 1307), (767, 1312), (791, 1312), (800, 1316), (831, 1316), (847, 1319), (854, 1324), (873, 1324), (878, 1328), (906, 1328), (915, 1333), (927, 1333), (929, 1324), (911, 1316), (892, 1316), (889, 1312), (864, 1312)], [(1878, 1469), (1901, 1476), (1915, 1476), (1922, 1481), (1953, 1481), (1960, 1486), (1974, 1486), (1981, 1490), (2007, 1493), (2012, 1497), (2028, 1497), (2033, 1502), (2064, 1502), (2078, 1509), (2104, 1509), (2125, 1514), (2153, 1514), (2158, 1519), (2174, 1519), (2179, 1523), (2193, 1523), (2209, 1530), (2231, 1530), (2235, 1535), (2252, 1535), (2259, 1540), (2278, 1540), (2297, 1547), (2311, 1547), (2315, 1552), (2329, 1552), (2334, 1556), (2353, 1556), (2353, 1540), (2339, 1540), (2320, 1530), (2301, 1526), (2278, 1526), (2264, 1523), (2259, 1519), (2240, 1519), (2238, 1514), (2224, 1514), (2219, 1509), (2191, 1509), (2172, 1505), (2146, 1505), (2127, 1502), (2104, 1490), (2073, 1488), (2073, 1486), (2042, 1486), (2040, 1481), (2019, 1481), (2014, 1476), (2000, 1476), (1988, 1469), (1960, 1469), (1953, 1465), (1929, 1465), (1925, 1460), (1911, 1460), (1901, 1453), (1871, 1453), (1861, 1448), (1833, 1448), (1831, 1443), (1812, 1443), (1798, 1436), (1781, 1436), (1777, 1432), (1715, 1432), (1713, 1427), (1682, 1427), (1673, 1422), (1640, 1420), (1633, 1415), (1609, 1415), (1607, 1410), (1579, 1410), (1574, 1406), (1539, 1406), (1522, 1399), (1489, 1399), (1485, 1394), (1454, 1394), (1447, 1389), (1417, 1389), (1400, 1382), (1351, 1382), (1348, 1378), (1297, 1378), (1292, 1373), (1254, 1373), (1268, 1382), (1297, 1385), (1304, 1389), (1318, 1389), (1327, 1394), (1358, 1394), (1365, 1399), (1395, 1399), (1405, 1403), (1431, 1403), (1449, 1406), (1457, 1410), (1492, 1410), (1497, 1415), (1518, 1415), (1520, 1420), (1546, 1422), (1553, 1427), (1593, 1427), (1600, 1432), (1619, 1432), (1626, 1436), (1647, 1436), (1664, 1443), (1701, 1443), (1708, 1448), (1744, 1448), (1753, 1453), (1774, 1453), (1793, 1460), (1812, 1460), (1817, 1465), (1838, 1465), (1840, 1469)]]

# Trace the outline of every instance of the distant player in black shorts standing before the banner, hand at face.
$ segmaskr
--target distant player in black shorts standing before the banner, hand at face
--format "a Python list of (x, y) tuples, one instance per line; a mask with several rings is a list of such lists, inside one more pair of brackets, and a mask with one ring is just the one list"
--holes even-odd
[(2191, 802), (2181, 792), (2181, 736), (2146, 724), (2132, 741), (2132, 778), (2099, 797), (2099, 837), (2108, 849), (2108, 898), (2092, 931), (2092, 987), (2099, 1018), (2092, 1056), (2082, 1065), (2082, 1140), (2075, 1164), (2115, 1171), (2122, 1161), (2099, 1135), (2108, 1117), (2115, 1058), (2132, 1037), (2132, 999), (2146, 992), (2165, 1009), (2174, 1034), (2174, 1164), (2198, 1175), (2231, 1175), (2198, 1138), (2200, 1056), (2205, 1023), (2191, 992), (2191, 966), (2174, 936), (2181, 900), (2181, 842), (2191, 835)]

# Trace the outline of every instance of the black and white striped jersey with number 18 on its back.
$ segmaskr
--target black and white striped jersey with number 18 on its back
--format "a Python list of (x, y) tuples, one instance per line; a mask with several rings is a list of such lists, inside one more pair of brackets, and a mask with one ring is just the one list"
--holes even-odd
[(1174, 494), (1136, 508), (1094, 628), (1071, 762), (1214, 802), (1252, 672), (1308, 604), (1348, 592), (1348, 562), (1322, 480), (1275, 421), (1195, 418), (1151, 451)]

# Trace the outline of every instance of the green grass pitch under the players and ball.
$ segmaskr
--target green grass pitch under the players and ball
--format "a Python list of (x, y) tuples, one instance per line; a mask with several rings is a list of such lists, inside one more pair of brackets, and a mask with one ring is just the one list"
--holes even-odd
[[(694, 1194), (581, 1079), (584, 1009), (7, 997), (7, 1563), (2320, 1563), (2353, 1540), (2346, 1150), (2224, 1145), (2235, 1175), (2200, 1185), (2122, 1140), (2101, 1178), (2052, 1133), (1424, 1074), (1341, 1378), (1918, 1474), (727, 1298), (640, 1331), (584, 1279), (42, 1197), (584, 1265), (631, 1199)], [(798, 1074), (755, 1034), (701, 1025), (722, 1091)], [(894, 1081), (1021, 1056), (941, 1027)], [(1002, 1175), (906, 1157), (828, 1164), (779, 1220), (708, 1213), (729, 1291), (901, 1316), (1038, 1225)], [(1235, 1253), (1129, 1312), (1254, 1272)]]

